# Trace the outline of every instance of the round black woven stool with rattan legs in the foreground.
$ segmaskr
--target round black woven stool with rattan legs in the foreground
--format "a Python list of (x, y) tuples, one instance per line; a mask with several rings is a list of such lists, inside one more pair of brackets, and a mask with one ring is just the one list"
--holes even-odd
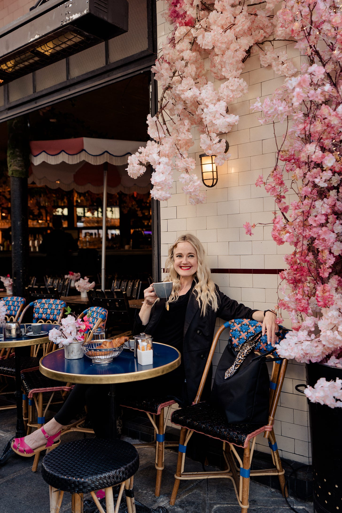
[(72, 494), (72, 513), (83, 511), (83, 494), (90, 492), (100, 511), (105, 513), (95, 495), (105, 488), (107, 513), (114, 513), (112, 486), (120, 485), (117, 513), (125, 488), (128, 513), (135, 512), (133, 476), (139, 468), (139, 456), (133, 445), (123, 440), (77, 440), (49, 452), (42, 465), (44, 481), (50, 485), (50, 513), (59, 513), (64, 491)]

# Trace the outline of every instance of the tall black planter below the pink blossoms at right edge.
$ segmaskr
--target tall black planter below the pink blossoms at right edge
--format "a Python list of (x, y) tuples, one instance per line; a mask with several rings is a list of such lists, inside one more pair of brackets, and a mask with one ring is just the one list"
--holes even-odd
[[(307, 365), (307, 383), (319, 378), (342, 379), (342, 369), (319, 363)], [(342, 511), (342, 408), (308, 401), (310, 415), (313, 503), (316, 513)]]

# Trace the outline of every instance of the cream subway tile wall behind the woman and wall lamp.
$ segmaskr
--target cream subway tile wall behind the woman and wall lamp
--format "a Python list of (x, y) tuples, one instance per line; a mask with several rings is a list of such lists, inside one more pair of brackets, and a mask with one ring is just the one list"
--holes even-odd
[[(165, 10), (163, 0), (157, 0), (157, 35), (158, 49), (161, 49), (171, 27), (162, 16)], [(297, 65), (299, 51), (293, 44), (284, 46), (290, 58)], [(206, 69), (209, 70), (208, 58), (205, 59)], [(210, 75), (210, 80), (215, 79)], [(290, 246), (277, 246), (271, 236), (272, 212), (275, 210), (274, 200), (265, 192), (263, 187), (256, 187), (255, 181), (259, 174), (267, 177), (275, 163), (275, 141), (273, 125), (261, 126), (259, 112), (253, 113), (250, 105), (257, 96), (261, 101), (270, 95), (283, 83), (284, 77), (274, 73), (270, 66), (260, 66), (258, 55), (252, 55), (245, 63), (243, 78), (249, 84), (246, 94), (229, 106), (232, 114), (239, 116), (237, 126), (228, 134), (220, 134), (230, 144), (231, 158), (218, 167), (218, 182), (215, 187), (206, 190), (207, 201), (201, 205), (189, 205), (182, 192), (181, 184), (174, 176), (174, 193), (167, 202), (160, 203), (162, 218), (162, 267), (169, 246), (180, 234), (191, 232), (195, 234), (208, 254), (208, 264), (213, 269), (284, 269), (284, 254), (291, 251)], [(222, 82), (216, 81), (219, 85)], [(216, 85), (215, 84), (215, 85)], [(286, 127), (275, 124), (275, 133), (280, 137)], [(199, 144), (199, 132), (193, 130), (194, 144), (190, 156), (196, 160), (196, 174), (200, 177), (199, 154), (202, 153)], [(287, 201), (291, 201), (288, 196)], [(246, 221), (261, 223), (246, 235), (243, 225)], [(272, 308), (277, 301), (277, 287), (280, 283), (277, 274), (252, 273), (215, 273), (212, 274), (215, 283), (232, 299), (243, 302), (246, 306), (265, 310)], [(217, 326), (223, 323), (217, 320)], [(291, 326), (284, 312), (284, 325)], [(229, 332), (226, 330), (217, 345), (213, 359), (214, 372), (220, 353), (223, 352)], [(271, 367), (271, 365), (269, 365)], [(280, 395), (279, 406), (274, 425), (280, 456), (302, 463), (310, 462), (310, 441), (308, 429), (307, 400), (303, 394), (295, 390), (299, 383), (305, 383), (305, 365), (290, 362), (286, 373), (283, 391)], [(177, 405), (174, 406), (176, 408)], [(169, 422), (169, 425), (171, 423)], [(176, 427), (176, 426), (174, 426)], [(263, 436), (257, 439), (257, 450), (269, 451), (268, 442)]]

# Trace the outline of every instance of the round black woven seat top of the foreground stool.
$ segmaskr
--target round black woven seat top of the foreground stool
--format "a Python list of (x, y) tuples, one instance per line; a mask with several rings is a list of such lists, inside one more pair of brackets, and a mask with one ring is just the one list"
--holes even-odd
[(49, 452), (42, 464), (44, 481), (72, 494), (115, 486), (139, 468), (133, 445), (123, 440), (76, 440)]

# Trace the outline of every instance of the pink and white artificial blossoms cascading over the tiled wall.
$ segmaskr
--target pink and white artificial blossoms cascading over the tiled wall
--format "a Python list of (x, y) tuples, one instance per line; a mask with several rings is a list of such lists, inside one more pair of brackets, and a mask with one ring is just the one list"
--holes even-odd
[[(205, 201), (189, 157), (191, 129), (198, 127), (200, 144), (222, 165), (229, 158), (218, 134), (229, 132), (238, 116), (229, 104), (247, 92), (240, 77), (251, 52), (262, 66), (285, 75), (263, 105), (261, 123), (284, 123), (277, 137), (276, 165), (264, 179), (279, 209), (272, 236), (289, 243), (288, 268), (281, 273), (285, 297), (279, 311), (289, 312), (293, 331), (279, 353), (299, 362), (326, 362), (342, 367), (342, 13), (339, 0), (165, 0), (167, 21), (174, 27), (153, 68), (161, 91), (155, 116), (148, 116), (152, 141), (129, 158), (128, 173), (137, 177), (146, 164), (154, 168), (151, 195), (171, 198), (173, 171), (192, 204)], [(278, 9), (278, 10), (277, 10)], [(300, 72), (275, 41), (291, 41), (304, 61)], [(217, 81), (208, 80), (204, 67)], [(217, 86), (217, 87), (216, 87)], [(296, 195), (290, 205), (286, 194)], [(252, 233), (253, 226), (245, 225)], [(281, 322), (281, 318), (278, 319)], [(342, 406), (342, 381), (320, 379), (307, 388), (311, 401)]]

